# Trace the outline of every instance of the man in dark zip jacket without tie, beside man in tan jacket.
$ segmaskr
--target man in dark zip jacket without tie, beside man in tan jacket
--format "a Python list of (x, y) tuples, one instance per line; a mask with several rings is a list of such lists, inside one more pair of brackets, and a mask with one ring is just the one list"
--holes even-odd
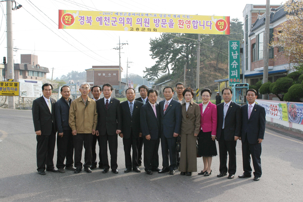
[[(65, 173), (65, 169), (75, 171), (73, 166), (74, 160), (74, 143), (72, 128), (68, 124), (69, 108), (72, 104), (71, 89), (69, 86), (62, 86), (60, 89), (62, 97), (55, 103), (55, 117), (58, 131), (57, 136), (57, 165), (60, 173)], [(66, 157), (66, 164), (64, 159)]]

